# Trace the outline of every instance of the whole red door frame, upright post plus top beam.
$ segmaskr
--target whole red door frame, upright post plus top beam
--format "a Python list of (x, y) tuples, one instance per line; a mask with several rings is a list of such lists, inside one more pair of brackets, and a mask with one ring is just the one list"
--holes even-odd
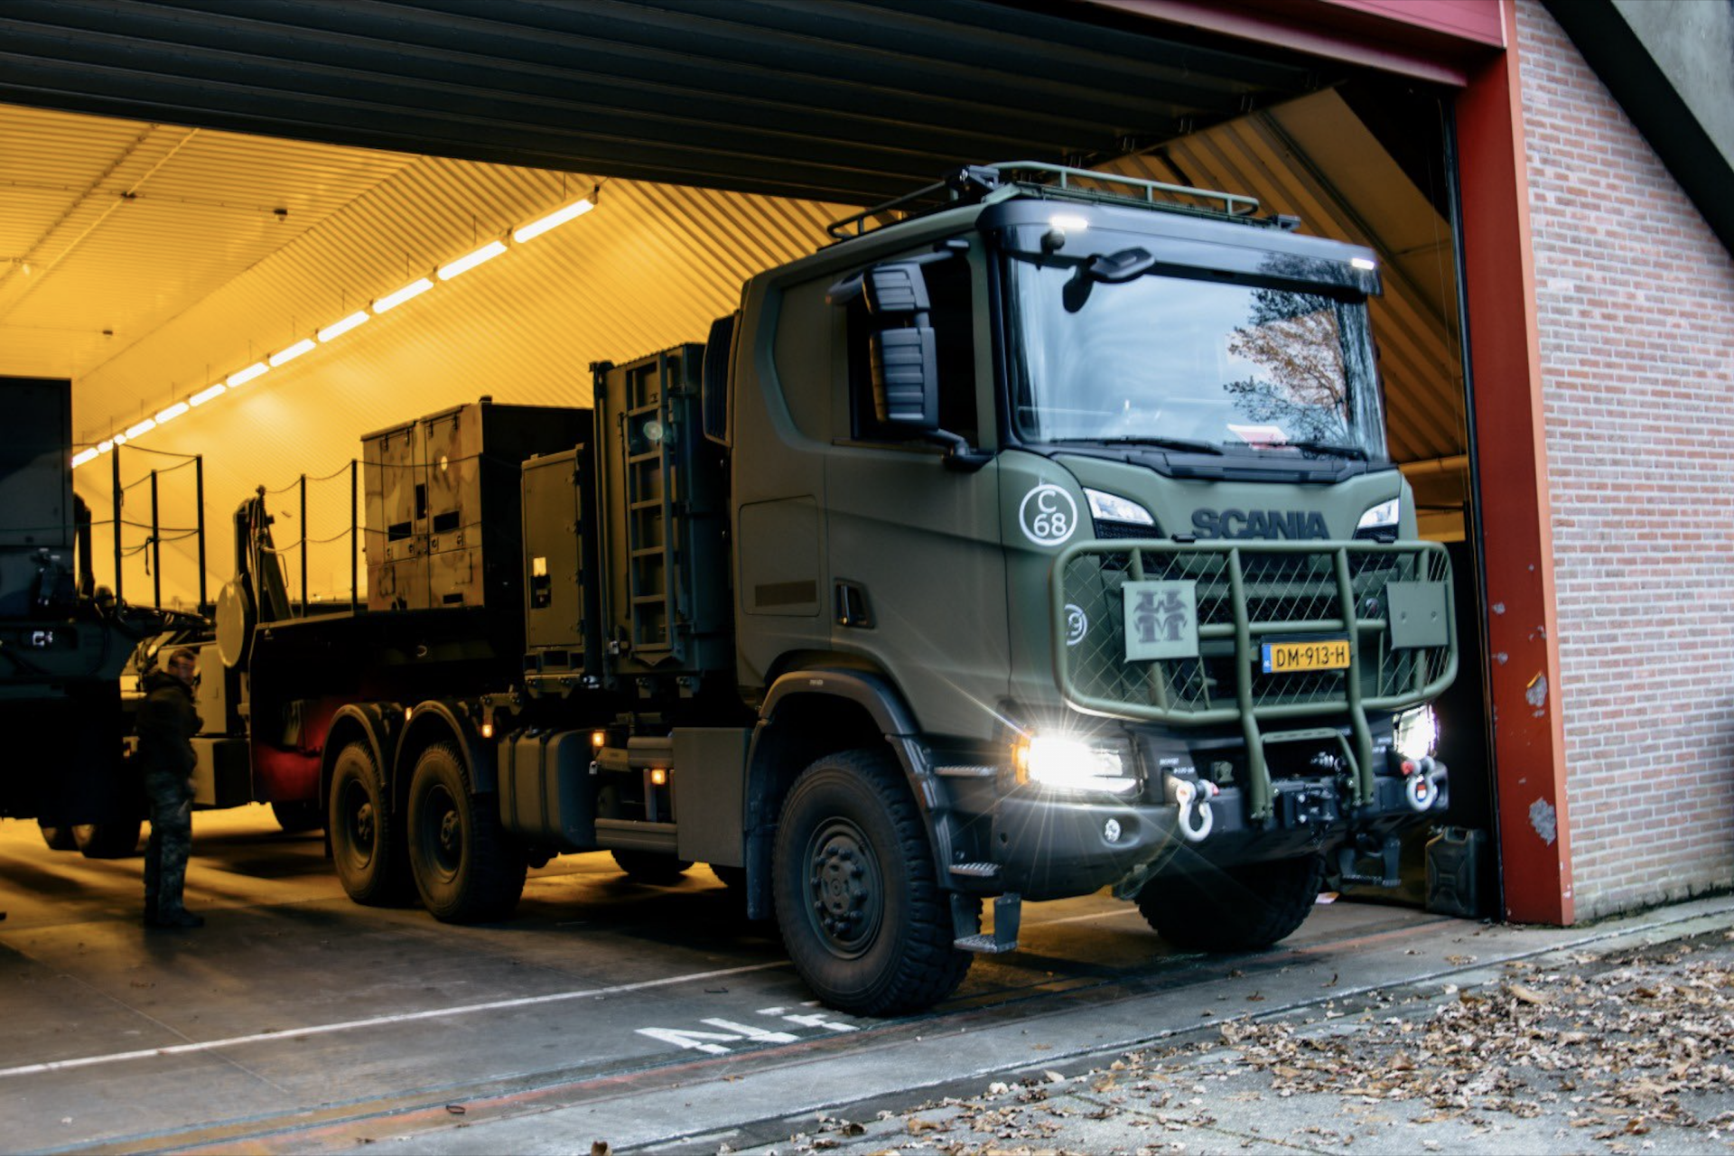
[(1505, 917), (1573, 922), (1516, 0), (1091, 2), (1458, 88), (1472, 468), (1486, 575), (1483, 614)]

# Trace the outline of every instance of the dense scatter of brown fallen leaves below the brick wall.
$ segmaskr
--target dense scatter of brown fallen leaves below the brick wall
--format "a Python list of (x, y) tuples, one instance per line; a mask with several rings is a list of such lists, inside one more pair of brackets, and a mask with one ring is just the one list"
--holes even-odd
[[(1347, 1021), (1354, 1031), (1236, 1021), (1222, 1024), (1222, 1040), (1269, 1073), (1280, 1097), (1415, 1101), (1429, 1109), (1415, 1123), (1548, 1113), (1614, 1149), (1656, 1127), (1708, 1128), (1720, 1140), (1734, 1123), (1724, 1111), (1734, 1094), (1729, 957), (1680, 943), (1573, 964), (1507, 964), (1503, 983), (1455, 993), (1424, 1019), (1380, 1019), (1392, 1002), (1377, 998)], [(1713, 1106), (1708, 1118), (1694, 1113), (1703, 1104)]]

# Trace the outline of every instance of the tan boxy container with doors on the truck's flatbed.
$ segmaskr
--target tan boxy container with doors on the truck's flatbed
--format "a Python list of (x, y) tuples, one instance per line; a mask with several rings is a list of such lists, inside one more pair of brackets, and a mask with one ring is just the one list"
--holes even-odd
[(588, 409), (484, 397), (366, 435), (368, 610), (494, 603), (517, 617), (520, 463), (588, 430)]

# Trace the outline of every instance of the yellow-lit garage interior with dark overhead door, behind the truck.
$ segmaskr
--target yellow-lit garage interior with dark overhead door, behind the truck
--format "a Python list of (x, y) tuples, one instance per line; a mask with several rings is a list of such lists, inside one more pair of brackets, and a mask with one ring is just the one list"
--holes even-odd
[[(1446, 88), (1157, 36), (1087, 5), (1075, 19), (971, 0), (477, 12), (0, 16), (21, 61), (0, 83), (0, 374), (71, 378), (76, 449), (111, 445), (75, 471), (99, 581), (114, 582), (118, 461), (128, 600), (215, 598), (231, 511), (265, 487), (291, 596), (347, 603), (364, 433), (480, 395), (586, 404), (590, 362), (701, 340), (747, 276), (824, 244), (825, 222), (959, 163), (1224, 189), (1382, 258), (1391, 454), (1424, 536), (1455, 542), (1446, 820), (1491, 830)], [(595, 208), (434, 272), (577, 199)], [(317, 340), (421, 277), (430, 291)]]

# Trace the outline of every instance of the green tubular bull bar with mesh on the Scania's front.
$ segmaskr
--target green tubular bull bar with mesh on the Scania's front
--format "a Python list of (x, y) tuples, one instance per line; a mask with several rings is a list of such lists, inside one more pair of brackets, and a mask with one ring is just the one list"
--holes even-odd
[[(1193, 584), (1196, 655), (1127, 659), (1129, 581)], [(1437, 542), (1077, 542), (1053, 568), (1054, 676), (1066, 702), (1087, 714), (1172, 726), (1238, 723), (1254, 820), (1271, 815), (1266, 745), (1335, 733), (1261, 724), (1346, 716), (1354, 801), (1366, 806), (1375, 796), (1368, 711), (1427, 702), (1457, 678), (1450, 581), (1451, 562)], [(1443, 586), (1443, 645), (1396, 645), (1392, 582)], [(1349, 638), (1349, 666), (1262, 672), (1264, 641), (1307, 638)]]

